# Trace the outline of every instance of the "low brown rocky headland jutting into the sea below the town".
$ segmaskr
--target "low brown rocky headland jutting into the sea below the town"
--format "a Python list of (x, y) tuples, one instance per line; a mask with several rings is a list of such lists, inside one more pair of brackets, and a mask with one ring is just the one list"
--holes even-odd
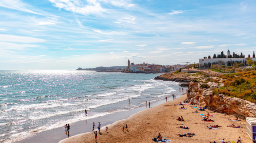
[(165, 73), (155, 77), (155, 80), (163, 81), (176, 81), (176, 82), (191, 82), (194, 78), (200, 77), (199, 75), (192, 76), (186, 73)]

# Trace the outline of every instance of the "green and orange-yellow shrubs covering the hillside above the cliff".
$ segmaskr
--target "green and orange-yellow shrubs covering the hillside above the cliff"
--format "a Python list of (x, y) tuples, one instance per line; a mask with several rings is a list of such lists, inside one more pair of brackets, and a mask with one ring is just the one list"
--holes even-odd
[(223, 87), (214, 90), (230, 97), (238, 97), (256, 103), (256, 70), (219, 76), (223, 79)]

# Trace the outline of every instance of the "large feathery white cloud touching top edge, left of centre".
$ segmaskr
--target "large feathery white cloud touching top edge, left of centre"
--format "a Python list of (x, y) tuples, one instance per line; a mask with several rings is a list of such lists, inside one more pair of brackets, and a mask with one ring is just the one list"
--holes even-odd
[(82, 15), (101, 14), (106, 10), (96, 0), (49, 0), (54, 7)]

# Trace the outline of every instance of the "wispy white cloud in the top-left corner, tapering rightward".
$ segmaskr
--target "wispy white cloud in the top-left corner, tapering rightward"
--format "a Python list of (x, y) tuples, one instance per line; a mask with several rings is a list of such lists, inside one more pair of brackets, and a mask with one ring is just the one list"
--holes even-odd
[(29, 13), (41, 15), (40, 13), (29, 10), (29, 9), (31, 9), (30, 5), (22, 3), (19, 0), (1, 0), (0, 6), (9, 8), (9, 9), (14, 9), (17, 11), (23, 11), (23, 12), (29, 12)]

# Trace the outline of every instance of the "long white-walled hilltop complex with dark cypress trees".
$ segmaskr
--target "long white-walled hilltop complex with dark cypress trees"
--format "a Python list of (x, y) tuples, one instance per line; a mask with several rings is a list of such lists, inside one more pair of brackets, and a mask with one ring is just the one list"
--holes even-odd
[[(210, 56), (204, 57), (202, 59), (199, 59), (200, 66), (203, 67), (210, 67), (212, 64), (219, 64), (219, 65), (225, 65), (225, 66), (231, 66), (233, 63), (245, 63), (246, 64), (246, 58), (245, 55), (241, 54), (235, 54), (231, 55), (231, 52), (227, 50), (227, 54), (223, 54), (223, 51), (221, 54), (218, 54), (217, 56), (214, 54), (214, 56), (211, 58)], [(255, 55), (253, 57), (250, 57), (251, 60), (256, 61)]]

